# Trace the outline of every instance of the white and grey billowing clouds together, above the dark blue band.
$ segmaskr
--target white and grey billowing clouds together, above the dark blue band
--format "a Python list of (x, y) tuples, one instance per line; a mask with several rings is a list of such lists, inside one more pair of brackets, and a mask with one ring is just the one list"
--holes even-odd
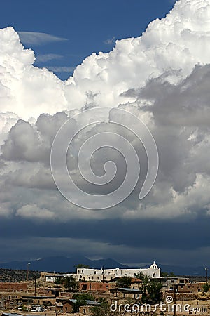
[[(128, 235), (138, 220), (209, 219), (209, 34), (210, 0), (181, 0), (165, 19), (151, 22), (141, 37), (117, 41), (110, 53), (89, 56), (63, 82), (49, 70), (33, 66), (33, 51), (23, 48), (13, 28), (0, 30), (0, 216), (38, 223), (78, 220), (80, 225), (121, 218), (129, 222)], [(50, 173), (50, 148), (55, 133), (72, 114), (106, 105), (129, 110), (148, 125), (158, 145), (160, 170), (143, 201), (137, 197), (141, 179), (123, 204), (87, 211), (69, 204), (57, 191)], [(99, 126), (92, 126), (73, 143), (68, 164), (79, 185), (83, 179), (76, 153), (97, 131)], [(144, 150), (133, 135), (123, 131), (123, 136), (140, 148), (144, 171)], [(98, 174), (106, 159), (124, 168), (119, 154), (102, 151), (94, 157)], [(113, 185), (122, 177), (123, 173)], [(87, 232), (90, 239), (96, 237), (92, 231)], [(122, 244), (125, 249), (130, 246), (126, 240)], [(154, 244), (147, 246), (153, 249)], [(197, 249), (201, 246), (197, 244)]]

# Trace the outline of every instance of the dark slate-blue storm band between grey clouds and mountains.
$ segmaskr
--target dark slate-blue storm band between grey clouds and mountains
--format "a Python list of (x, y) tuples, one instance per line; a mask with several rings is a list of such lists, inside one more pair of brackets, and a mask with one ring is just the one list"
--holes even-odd
[[(186, 223), (73, 220), (50, 226), (27, 220), (13, 220), (12, 223), (3, 220), (1, 240), (5, 246), (10, 246), (2, 248), (1, 261), (11, 260), (11, 251), (19, 260), (55, 254), (71, 256), (80, 254), (80, 251), (85, 256), (100, 256), (103, 251), (104, 257), (130, 264), (150, 262), (154, 258), (167, 263), (172, 260), (173, 249), (175, 265), (190, 265), (191, 256), (196, 258), (201, 249), (208, 249), (208, 228), (209, 223), (204, 218)], [(205, 256), (203, 250), (200, 260), (204, 260)]]

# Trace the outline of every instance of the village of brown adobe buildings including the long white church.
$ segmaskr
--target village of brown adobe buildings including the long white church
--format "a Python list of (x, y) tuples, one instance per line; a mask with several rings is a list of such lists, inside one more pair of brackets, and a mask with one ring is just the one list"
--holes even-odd
[[(55, 284), (57, 279), (73, 276), (79, 284), (78, 293), (92, 294), (95, 301), (86, 300), (85, 305), (80, 306), (79, 314), (92, 315), (93, 306), (99, 306), (100, 299), (105, 299), (110, 305), (113, 302), (125, 304), (128, 300), (138, 301), (141, 298), (143, 281), (135, 275), (143, 273), (151, 279), (162, 284), (163, 299), (176, 295), (177, 300), (195, 299), (202, 291), (204, 282), (190, 282), (188, 277), (161, 277), (160, 268), (153, 262), (148, 268), (139, 269), (94, 269), (77, 268), (76, 273), (48, 273), (41, 272), (40, 279), (34, 282), (0, 283), (0, 310), (3, 316), (10, 311), (25, 309), (25, 312), (43, 312), (71, 314), (76, 304), (76, 299), (71, 291), (62, 285)], [(130, 287), (118, 287), (121, 277), (130, 277)], [(54, 314), (54, 315), (55, 315)], [(29, 314), (27, 314), (29, 315)]]

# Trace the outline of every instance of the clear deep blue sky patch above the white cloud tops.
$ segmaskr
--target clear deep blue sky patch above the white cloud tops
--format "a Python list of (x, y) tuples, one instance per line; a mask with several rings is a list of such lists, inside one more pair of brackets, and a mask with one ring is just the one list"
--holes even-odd
[(13, 26), (25, 48), (34, 50), (34, 65), (65, 80), (88, 55), (111, 51), (116, 39), (141, 35), (172, 6), (170, 0), (9, 0), (1, 3), (0, 27)]

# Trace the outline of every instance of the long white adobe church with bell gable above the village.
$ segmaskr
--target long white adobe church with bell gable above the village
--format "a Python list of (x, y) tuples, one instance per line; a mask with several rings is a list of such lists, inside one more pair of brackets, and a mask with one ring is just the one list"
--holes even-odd
[(149, 268), (139, 268), (139, 269), (90, 269), (90, 268), (78, 268), (76, 270), (76, 279), (78, 281), (94, 281), (94, 282), (106, 282), (111, 281), (115, 277), (134, 277), (135, 274), (140, 272), (144, 275), (148, 275), (151, 278), (160, 277), (160, 268), (153, 262)]

